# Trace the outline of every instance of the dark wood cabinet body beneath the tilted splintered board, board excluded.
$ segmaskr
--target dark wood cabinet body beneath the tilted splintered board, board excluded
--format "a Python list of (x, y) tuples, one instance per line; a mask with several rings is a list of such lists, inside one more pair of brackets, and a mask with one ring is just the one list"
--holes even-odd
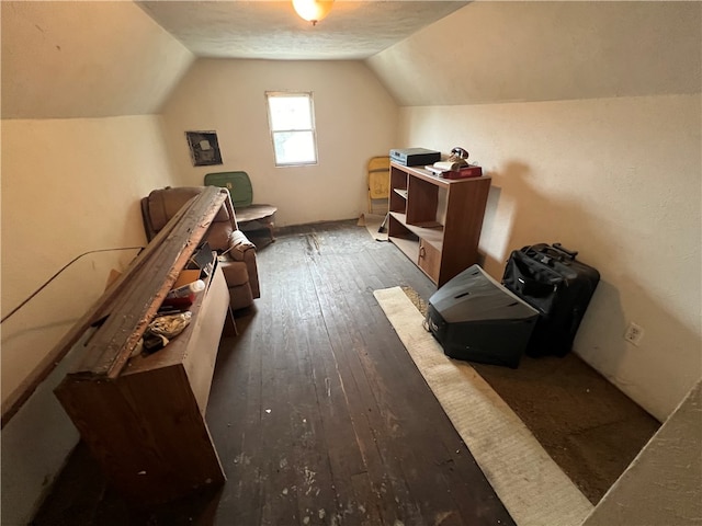
[(225, 481), (205, 422), (229, 291), (219, 267), (168, 345), (129, 358), (116, 378), (68, 375), (56, 396), (112, 484), (160, 503)]

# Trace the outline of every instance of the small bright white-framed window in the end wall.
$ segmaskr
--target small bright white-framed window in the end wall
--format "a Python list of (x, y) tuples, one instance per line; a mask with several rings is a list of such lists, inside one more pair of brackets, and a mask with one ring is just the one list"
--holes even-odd
[(312, 93), (267, 92), (276, 167), (317, 163)]

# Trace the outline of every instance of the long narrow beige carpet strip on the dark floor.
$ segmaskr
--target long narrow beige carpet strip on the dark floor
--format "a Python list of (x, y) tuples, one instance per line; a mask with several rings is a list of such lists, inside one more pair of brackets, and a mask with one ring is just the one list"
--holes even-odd
[(400, 287), (373, 294), (514, 522), (580, 525), (592, 504), (519, 416), (469, 364), (443, 354)]

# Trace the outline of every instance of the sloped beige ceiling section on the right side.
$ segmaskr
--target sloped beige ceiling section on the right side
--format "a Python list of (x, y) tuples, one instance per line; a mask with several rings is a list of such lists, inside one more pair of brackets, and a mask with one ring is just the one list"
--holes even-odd
[(700, 93), (701, 2), (473, 2), (367, 60), (400, 105)]

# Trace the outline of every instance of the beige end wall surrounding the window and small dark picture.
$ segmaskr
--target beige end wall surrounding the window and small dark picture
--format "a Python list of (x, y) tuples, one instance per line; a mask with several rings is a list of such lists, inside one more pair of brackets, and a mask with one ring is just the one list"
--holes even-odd
[[(318, 164), (275, 168), (265, 91), (312, 91)], [(279, 207), (279, 226), (358, 217), (366, 208), (365, 165), (395, 145), (397, 106), (360, 61), (201, 59), (163, 107), (165, 135), (181, 184), (245, 170), (258, 203)], [(186, 130), (216, 130), (223, 164), (193, 167)]]

